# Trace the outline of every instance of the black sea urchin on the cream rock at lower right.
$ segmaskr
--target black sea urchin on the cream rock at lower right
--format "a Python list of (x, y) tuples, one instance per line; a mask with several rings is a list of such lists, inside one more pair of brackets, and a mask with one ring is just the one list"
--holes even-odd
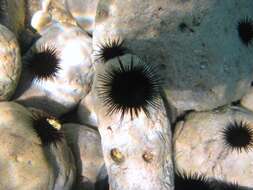
[(253, 129), (246, 122), (229, 123), (223, 131), (224, 144), (230, 150), (248, 152), (253, 148)]

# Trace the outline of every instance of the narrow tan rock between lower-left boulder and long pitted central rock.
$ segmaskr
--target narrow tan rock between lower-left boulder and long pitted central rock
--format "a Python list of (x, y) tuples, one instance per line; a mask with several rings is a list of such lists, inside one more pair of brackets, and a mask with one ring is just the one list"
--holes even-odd
[(98, 131), (79, 124), (64, 124), (68, 144), (77, 165), (76, 190), (94, 190), (98, 173), (104, 164)]

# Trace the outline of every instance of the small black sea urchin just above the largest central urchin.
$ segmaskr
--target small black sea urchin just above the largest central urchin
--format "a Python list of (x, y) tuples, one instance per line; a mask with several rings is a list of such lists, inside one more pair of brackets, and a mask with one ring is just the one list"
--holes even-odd
[(127, 48), (124, 47), (124, 40), (118, 39), (108, 39), (104, 44), (98, 46), (97, 59), (107, 62), (115, 57), (122, 56), (126, 54)]

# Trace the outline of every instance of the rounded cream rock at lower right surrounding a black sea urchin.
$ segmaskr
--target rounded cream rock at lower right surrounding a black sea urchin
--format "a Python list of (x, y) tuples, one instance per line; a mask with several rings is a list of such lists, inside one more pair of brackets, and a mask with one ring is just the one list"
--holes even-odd
[(173, 139), (177, 169), (253, 187), (252, 149), (250, 146), (241, 151), (230, 149), (231, 146), (225, 143), (224, 130), (235, 122), (247, 124), (253, 130), (253, 113), (239, 107), (224, 107), (190, 113), (180, 121)]

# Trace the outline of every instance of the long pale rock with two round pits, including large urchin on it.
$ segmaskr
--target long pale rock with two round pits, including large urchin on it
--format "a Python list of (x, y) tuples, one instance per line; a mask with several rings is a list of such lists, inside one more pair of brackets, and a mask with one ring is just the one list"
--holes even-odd
[[(163, 103), (159, 97), (156, 99), (159, 76), (153, 75), (147, 65), (135, 65), (139, 61), (138, 57), (128, 54), (97, 64), (95, 68), (92, 97), (110, 189), (172, 190), (171, 130)], [(151, 82), (155, 87), (149, 86)], [(135, 98), (147, 100), (147, 94), (141, 96), (146, 90), (155, 97), (149, 97), (150, 104), (143, 105)], [(159, 108), (153, 109), (152, 104)]]

